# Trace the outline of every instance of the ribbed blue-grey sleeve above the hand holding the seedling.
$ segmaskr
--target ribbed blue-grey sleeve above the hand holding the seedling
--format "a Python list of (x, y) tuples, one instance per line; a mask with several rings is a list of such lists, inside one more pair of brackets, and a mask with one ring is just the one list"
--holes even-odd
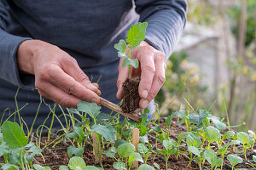
[(168, 59), (186, 23), (186, 0), (135, 0), (135, 5), (140, 21), (148, 22), (145, 41)]

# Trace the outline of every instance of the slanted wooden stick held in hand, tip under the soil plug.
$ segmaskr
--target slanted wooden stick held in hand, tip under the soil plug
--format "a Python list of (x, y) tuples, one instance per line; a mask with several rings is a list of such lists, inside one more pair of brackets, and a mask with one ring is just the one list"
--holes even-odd
[(101, 98), (100, 104), (104, 105), (105, 107), (108, 107), (108, 109), (111, 109), (113, 111), (118, 112), (119, 114), (128, 117), (129, 119), (136, 121), (136, 122), (142, 122), (142, 118), (138, 116), (138, 113), (140, 110), (135, 111), (133, 113), (124, 113), (119, 105), (115, 105), (112, 102), (108, 101), (107, 99)]

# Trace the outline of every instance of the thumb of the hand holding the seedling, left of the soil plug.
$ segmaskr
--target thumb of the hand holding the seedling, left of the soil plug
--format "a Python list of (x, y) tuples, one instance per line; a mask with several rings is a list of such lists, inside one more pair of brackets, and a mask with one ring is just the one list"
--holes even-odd
[(123, 88), (122, 88), (122, 84), (123, 82), (125, 82), (126, 78), (128, 77), (128, 67), (123, 67), (122, 63), (123, 63), (124, 58), (121, 58), (119, 61), (119, 77), (118, 80), (116, 82), (116, 86), (118, 88), (118, 92), (116, 94), (116, 97), (118, 99), (122, 99), (123, 98)]

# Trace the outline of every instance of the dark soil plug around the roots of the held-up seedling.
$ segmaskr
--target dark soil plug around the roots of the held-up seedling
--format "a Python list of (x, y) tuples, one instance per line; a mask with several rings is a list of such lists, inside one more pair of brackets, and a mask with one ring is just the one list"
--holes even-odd
[(140, 77), (129, 77), (123, 83), (124, 99), (121, 108), (125, 113), (132, 113), (139, 108), (139, 101), (141, 99), (138, 94), (139, 83)]

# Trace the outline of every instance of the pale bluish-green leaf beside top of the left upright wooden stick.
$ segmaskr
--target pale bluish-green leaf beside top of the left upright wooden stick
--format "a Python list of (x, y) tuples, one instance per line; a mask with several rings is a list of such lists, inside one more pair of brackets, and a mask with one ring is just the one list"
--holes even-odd
[(106, 140), (114, 142), (114, 136), (115, 136), (116, 130), (112, 125), (108, 125), (108, 126), (93, 125), (91, 127), (91, 132), (92, 133), (99, 133)]

